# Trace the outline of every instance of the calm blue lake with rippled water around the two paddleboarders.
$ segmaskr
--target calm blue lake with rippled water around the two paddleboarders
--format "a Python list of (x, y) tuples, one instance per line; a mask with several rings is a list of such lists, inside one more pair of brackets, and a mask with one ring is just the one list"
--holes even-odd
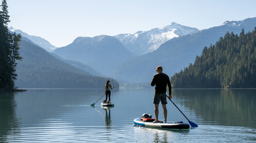
[[(172, 101), (198, 125), (186, 130), (135, 126), (154, 117), (154, 89), (113, 89), (112, 108), (100, 106), (104, 89), (28, 89), (0, 93), (2, 143), (253, 143), (256, 89), (174, 89)], [(98, 102), (96, 102), (102, 97)], [(95, 106), (90, 106), (95, 103)], [(167, 121), (188, 120), (168, 100)], [(160, 105), (159, 120), (163, 121)]]

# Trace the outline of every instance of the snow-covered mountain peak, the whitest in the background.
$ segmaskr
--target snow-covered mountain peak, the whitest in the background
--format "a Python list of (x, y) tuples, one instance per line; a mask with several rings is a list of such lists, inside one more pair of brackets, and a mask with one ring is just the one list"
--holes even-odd
[(197, 28), (191, 28), (172, 22), (171, 25), (154, 28), (150, 31), (137, 31), (134, 34), (119, 34), (113, 37), (118, 39), (125, 48), (137, 56), (141, 56), (156, 50), (169, 39), (197, 31), (199, 31)]

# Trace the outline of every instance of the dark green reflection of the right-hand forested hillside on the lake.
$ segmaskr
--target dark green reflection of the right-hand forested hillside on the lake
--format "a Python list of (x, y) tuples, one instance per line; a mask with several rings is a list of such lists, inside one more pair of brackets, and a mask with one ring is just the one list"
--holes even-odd
[(195, 111), (201, 124), (256, 128), (256, 89), (173, 90), (180, 104)]

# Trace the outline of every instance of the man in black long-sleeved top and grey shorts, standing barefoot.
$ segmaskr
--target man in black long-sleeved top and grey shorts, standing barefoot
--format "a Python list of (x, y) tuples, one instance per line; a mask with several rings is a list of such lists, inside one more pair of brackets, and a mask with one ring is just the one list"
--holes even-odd
[(154, 100), (153, 100), (153, 104), (154, 104), (154, 113), (156, 116), (156, 120), (152, 123), (158, 123), (158, 107), (159, 107), (159, 103), (161, 101), (162, 107), (163, 107), (163, 116), (164, 116), (164, 122), (166, 123), (167, 121), (167, 109), (166, 109), (166, 104), (167, 104), (167, 100), (166, 100), (166, 86), (168, 85), (168, 89), (169, 89), (169, 96), (168, 99), (172, 99), (172, 87), (171, 87), (171, 83), (170, 83), (170, 79), (169, 76), (167, 76), (165, 73), (163, 73), (163, 67), (158, 66), (157, 67), (157, 74), (155, 74), (153, 76), (153, 79), (151, 81), (151, 86), (155, 87), (155, 92), (154, 92)]

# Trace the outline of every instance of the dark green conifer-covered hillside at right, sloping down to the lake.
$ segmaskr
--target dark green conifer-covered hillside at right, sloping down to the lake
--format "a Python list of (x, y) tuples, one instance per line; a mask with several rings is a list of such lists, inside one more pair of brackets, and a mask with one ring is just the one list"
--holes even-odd
[(205, 47), (195, 63), (171, 77), (174, 88), (256, 88), (256, 27), (227, 32)]

